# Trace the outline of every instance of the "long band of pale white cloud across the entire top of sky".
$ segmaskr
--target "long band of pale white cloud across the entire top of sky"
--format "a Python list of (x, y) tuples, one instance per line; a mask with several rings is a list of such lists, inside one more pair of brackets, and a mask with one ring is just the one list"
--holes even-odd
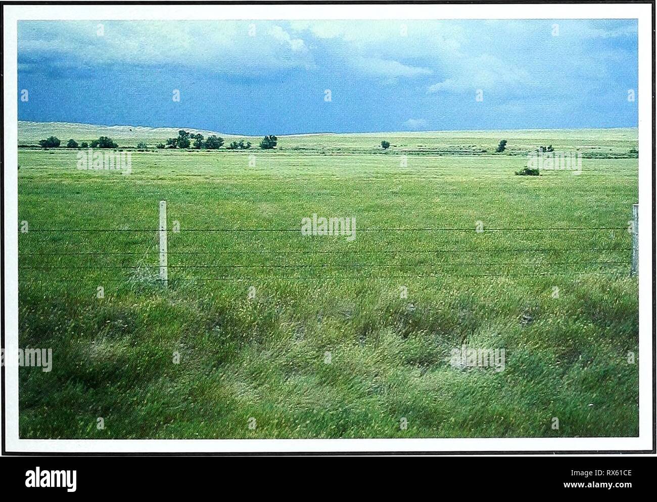
[(39, 21), (19, 23), (18, 48), (23, 68), (39, 57), (61, 66), (181, 64), (248, 75), (321, 65), (392, 84), (434, 75), (429, 94), (520, 93), (591, 69), (608, 75), (625, 52), (604, 56), (586, 44), (636, 37), (635, 22), (557, 22), (558, 37), (553, 20), (114, 21), (103, 36), (97, 22)]

